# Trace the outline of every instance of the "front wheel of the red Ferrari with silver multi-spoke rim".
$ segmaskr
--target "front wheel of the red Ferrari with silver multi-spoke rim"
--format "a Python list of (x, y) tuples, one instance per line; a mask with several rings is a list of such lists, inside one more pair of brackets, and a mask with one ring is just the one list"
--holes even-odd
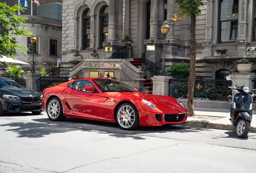
[(134, 130), (140, 125), (138, 111), (130, 103), (122, 104), (116, 112), (116, 123), (124, 130)]

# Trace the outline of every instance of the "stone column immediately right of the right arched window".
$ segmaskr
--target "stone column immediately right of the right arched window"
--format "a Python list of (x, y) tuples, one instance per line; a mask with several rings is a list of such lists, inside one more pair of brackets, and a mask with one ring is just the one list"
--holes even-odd
[(116, 0), (109, 0), (108, 42), (116, 42)]

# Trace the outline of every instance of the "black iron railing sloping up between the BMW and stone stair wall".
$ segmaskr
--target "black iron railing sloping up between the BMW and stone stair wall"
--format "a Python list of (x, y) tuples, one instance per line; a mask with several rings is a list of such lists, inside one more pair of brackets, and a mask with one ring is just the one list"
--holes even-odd
[(37, 91), (43, 92), (43, 89), (52, 83), (67, 82), (70, 69), (71, 67), (57, 67), (48, 72), (46, 75), (37, 79), (35, 81), (37, 83)]

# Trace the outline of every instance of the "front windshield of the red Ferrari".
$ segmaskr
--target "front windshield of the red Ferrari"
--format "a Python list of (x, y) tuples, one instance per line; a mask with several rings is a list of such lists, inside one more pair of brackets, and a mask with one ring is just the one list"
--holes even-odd
[(98, 85), (102, 92), (135, 92), (132, 88), (117, 80), (102, 78), (94, 79), (93, 81)]

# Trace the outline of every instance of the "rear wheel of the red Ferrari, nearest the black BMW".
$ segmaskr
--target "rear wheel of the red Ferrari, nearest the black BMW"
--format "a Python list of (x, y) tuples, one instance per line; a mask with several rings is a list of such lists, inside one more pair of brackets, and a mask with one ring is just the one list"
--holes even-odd
[(60, 100), (56, 97), (52, 98), (47, 103), (46, 109), (47, 109), (47, 115), (49, 119), (52, 121), (63, 121), (67, 118), (63, 116), (62, 104)]

